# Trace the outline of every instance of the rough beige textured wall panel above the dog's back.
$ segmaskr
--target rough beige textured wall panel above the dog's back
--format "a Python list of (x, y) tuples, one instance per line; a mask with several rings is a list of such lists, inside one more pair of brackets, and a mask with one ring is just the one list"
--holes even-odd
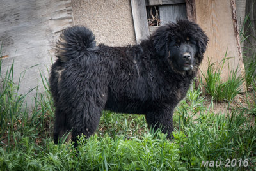
[(72, 0), (75, 25), (92, 29), (97, 44), (134, 44), (135, 34), (130, 0)]

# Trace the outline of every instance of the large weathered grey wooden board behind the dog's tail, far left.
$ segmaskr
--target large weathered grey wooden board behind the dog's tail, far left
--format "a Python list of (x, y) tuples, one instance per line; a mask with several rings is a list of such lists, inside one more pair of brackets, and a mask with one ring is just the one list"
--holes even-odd
[[(40, 71), (47, 77), (54, 42), (61, 30), (72, 25), (71, 9), (70, 0), (0, 1), (0, 44), (3, 43), (5, 56), (1, 72), (10, 68), (14, 60), (14, 81), (18, 82), (22, 71), (38, 65), (26, 71), (20, 94), (38, 85), (42, 90)], [(29, 94), (28, 105), (34, 96), (35, 91)]]

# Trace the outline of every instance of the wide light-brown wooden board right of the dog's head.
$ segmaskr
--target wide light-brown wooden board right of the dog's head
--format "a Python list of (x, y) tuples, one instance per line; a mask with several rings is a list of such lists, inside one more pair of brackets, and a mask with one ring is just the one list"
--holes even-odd
[[(227, 51), (229, 65), (223, 68), (221, 78), (227, 80), (230, 70), (239, 67), (239, 73), (244, 75), (244, 65), (239, 45), (236, 8), (233, 0), (200, 0), (195, 1), (196, 22), (209, 36), (209, 46), (205, 52), (201, 70), (206, 74), (208, 57), (211, 63), (221, 63)], [(242, 87), (245, 90), (245, 85)]]

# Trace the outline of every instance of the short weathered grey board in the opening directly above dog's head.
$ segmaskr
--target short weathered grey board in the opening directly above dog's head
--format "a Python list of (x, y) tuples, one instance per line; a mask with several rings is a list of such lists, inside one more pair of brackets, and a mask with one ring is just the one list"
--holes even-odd
[(187, 19), (186, 4), (159, 6), (160, 24), (176, 22), (176, 19)]

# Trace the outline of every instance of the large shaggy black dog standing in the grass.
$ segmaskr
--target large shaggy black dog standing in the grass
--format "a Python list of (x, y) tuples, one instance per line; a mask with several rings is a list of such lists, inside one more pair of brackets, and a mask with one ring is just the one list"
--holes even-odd
[(92, 31), (66, 29), (56, 46), (50, 88), (54, 97), (54, 142), (96, 130), (102, 110), (145, 114), (148, 126), (172, 136), (173, 109), (186, 96), (208, 38), (200, 27), (178, 20), (159, 27), (140, 45), (95, 46)]

